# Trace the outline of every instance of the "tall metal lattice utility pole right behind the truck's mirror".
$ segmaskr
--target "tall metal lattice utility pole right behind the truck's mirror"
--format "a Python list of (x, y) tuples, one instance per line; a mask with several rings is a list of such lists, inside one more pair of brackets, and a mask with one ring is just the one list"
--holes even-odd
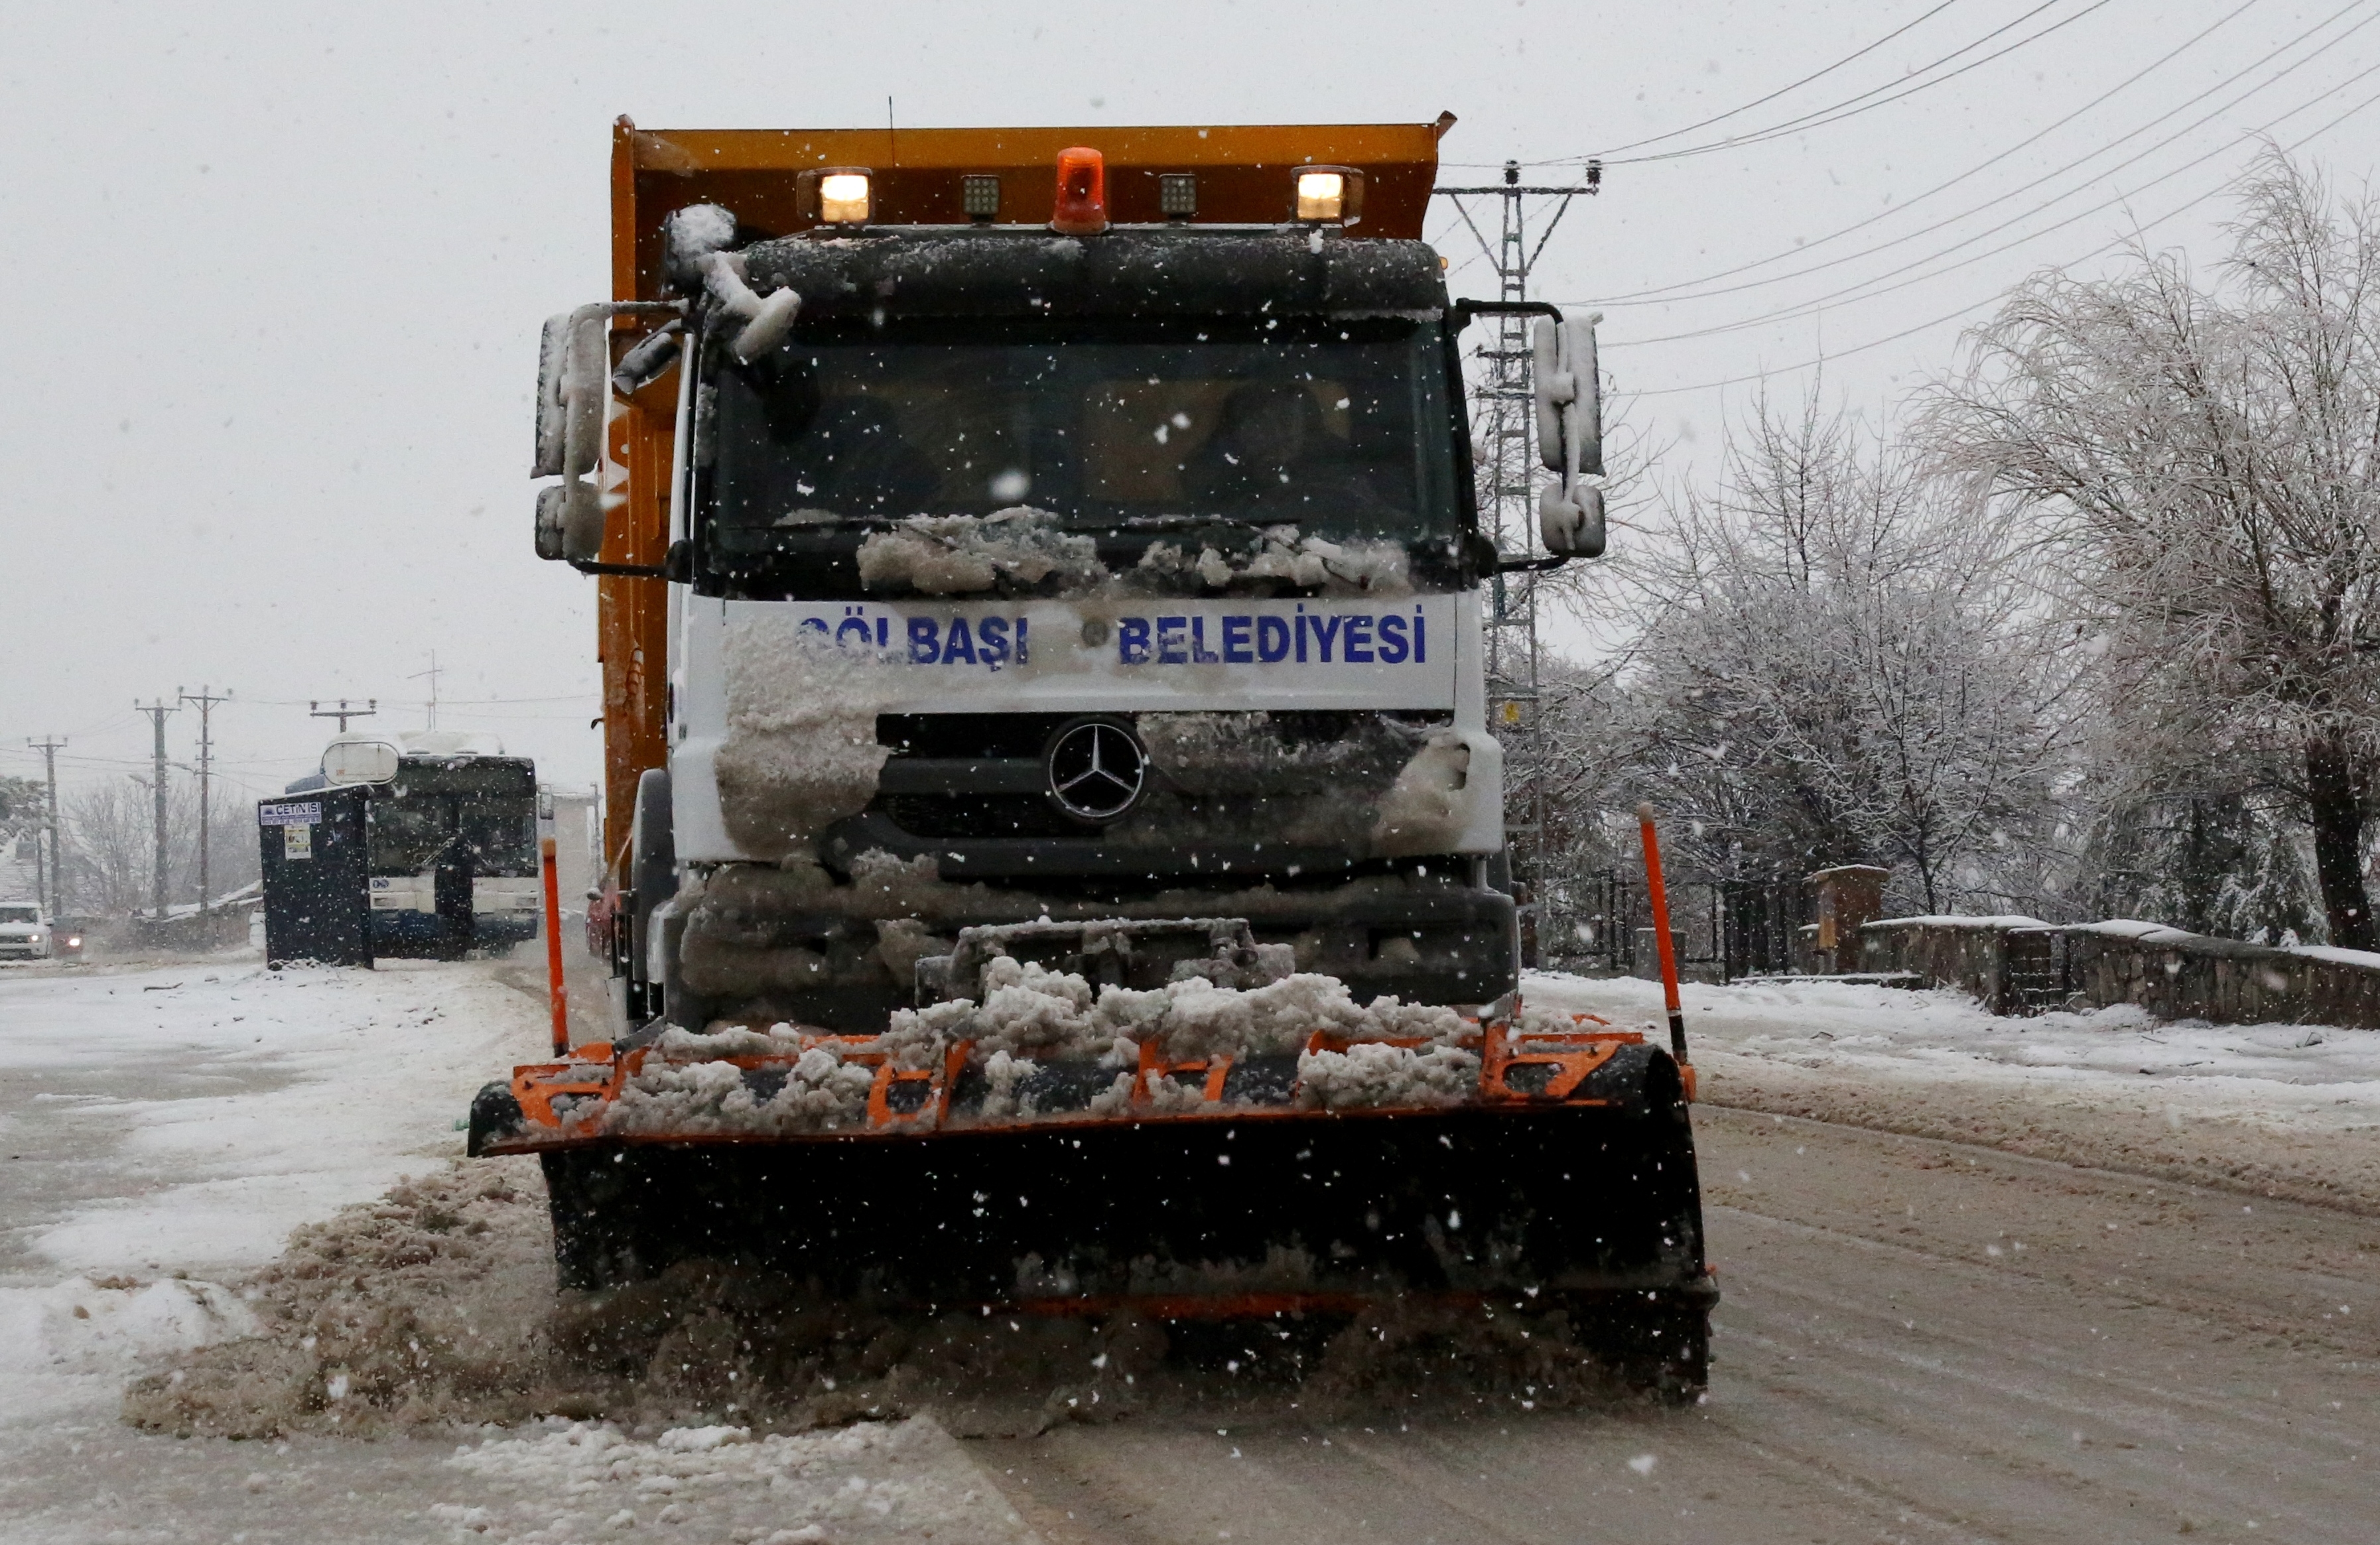
[[(1433, 188), (1454, 205), (1480, 252), (1495, 264), (1497, 300), (1528, 300), (1528, 276), (1552, 240), (1554, 226), (1580, 193), (1599, 193), (1602, 162), (1587, 162), (1587, 176), (1571, 188), (1530, 188), (1521, 183), (1521, 162), (1504, 162), (1504, 181), (1488, 188)], [(1495, 236), (1473, 219), (1464, 200), (1497, 202)], [(1530, 245), (1530, 200), (1545, 212), (1537, 240)], [(1549, 207), (1547, 207), (1549, 205)], [(1490, 321), (1483, 317), (1480, 321)], [(1528, 317), (1511, 312), (1492, 317), (1495, 333), (1473, 350), (1480, 379), (1471, 426), (1476, 445), (1476, 488), (1480, 524), (1495, 538), (1504, 559), (1535, 559), (1537, 478), (1535, 395), (1530, 381)], [(1547, 964), (1547, 940), (1554, 938), (1552, 855), (1547, 852), (1547, 776), (1549, 755), (1545, 717), (1537, 712), (1537, 569), (1495, 574), (1488, 595), (1488, 728), (1504, 743), (1507, 843), (1514, 855), (1514, 878), (1526, 886), (1521, 919), (1535, 950), (1526, 964)]]

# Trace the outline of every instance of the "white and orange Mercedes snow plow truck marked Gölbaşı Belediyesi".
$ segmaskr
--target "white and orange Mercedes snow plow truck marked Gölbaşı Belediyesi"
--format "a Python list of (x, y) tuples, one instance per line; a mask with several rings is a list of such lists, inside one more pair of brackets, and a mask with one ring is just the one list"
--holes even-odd
[[(1561, 1307), (1671, 1395), (1683, 1040), (1518, 993), (1483, 590), (1602, 552), (1592, 324), (1449, 300), (1414, 126), (640, 131), (545, 326), (624, 1005), (471, 1109), (559, 1281)], [(1545, 557), (1459, 359), (1533, 312)]]

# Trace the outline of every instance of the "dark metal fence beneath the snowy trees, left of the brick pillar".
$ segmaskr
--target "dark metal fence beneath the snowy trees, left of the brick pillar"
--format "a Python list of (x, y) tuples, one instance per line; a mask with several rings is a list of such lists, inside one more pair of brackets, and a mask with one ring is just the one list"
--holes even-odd
[[(1602, 869), (1549, 888), (1537, 917), (1549, 919), (1533, 940), (1533, 959), (1568, 971), (1635, 971), (1637, 933), (1652, 947), (1652, 900), (1645, 876)], [(1668, 881), (1668, 926), (1678, 967), (1692, 976), (1735, 981), (1787, 971), (1804, 924), (1816, 921), (1809, 883), (1795, 878)], [(1652, 964), (1649, 959), (1645, 962)]]

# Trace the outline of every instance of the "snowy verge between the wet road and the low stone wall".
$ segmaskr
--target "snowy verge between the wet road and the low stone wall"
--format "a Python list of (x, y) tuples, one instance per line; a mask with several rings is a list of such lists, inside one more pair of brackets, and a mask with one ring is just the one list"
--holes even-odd
[[(1661, 986), (1533, 974), (1540, 1009), (1666, 1040)], [(2002, 1019), (1956, 990), (1685, 983), (1702, 1097), (2380, 1214), (2380, 1031)]]

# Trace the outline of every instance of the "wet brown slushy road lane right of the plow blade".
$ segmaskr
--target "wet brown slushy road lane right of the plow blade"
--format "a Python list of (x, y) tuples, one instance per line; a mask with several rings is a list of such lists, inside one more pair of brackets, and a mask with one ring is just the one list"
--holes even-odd
[(1699, 1136), (1699, 1409), (971, 1452), (1052, 1545), (2373, 1538), (2380, 1224), (1749, 1112)]

